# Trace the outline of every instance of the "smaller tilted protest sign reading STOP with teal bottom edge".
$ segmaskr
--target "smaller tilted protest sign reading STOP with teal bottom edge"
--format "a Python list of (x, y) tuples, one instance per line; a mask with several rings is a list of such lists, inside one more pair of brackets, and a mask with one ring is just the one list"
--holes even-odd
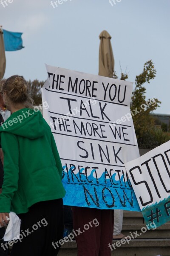
[(125, 167), (146, 223), (170, 221), (170, 141)]

